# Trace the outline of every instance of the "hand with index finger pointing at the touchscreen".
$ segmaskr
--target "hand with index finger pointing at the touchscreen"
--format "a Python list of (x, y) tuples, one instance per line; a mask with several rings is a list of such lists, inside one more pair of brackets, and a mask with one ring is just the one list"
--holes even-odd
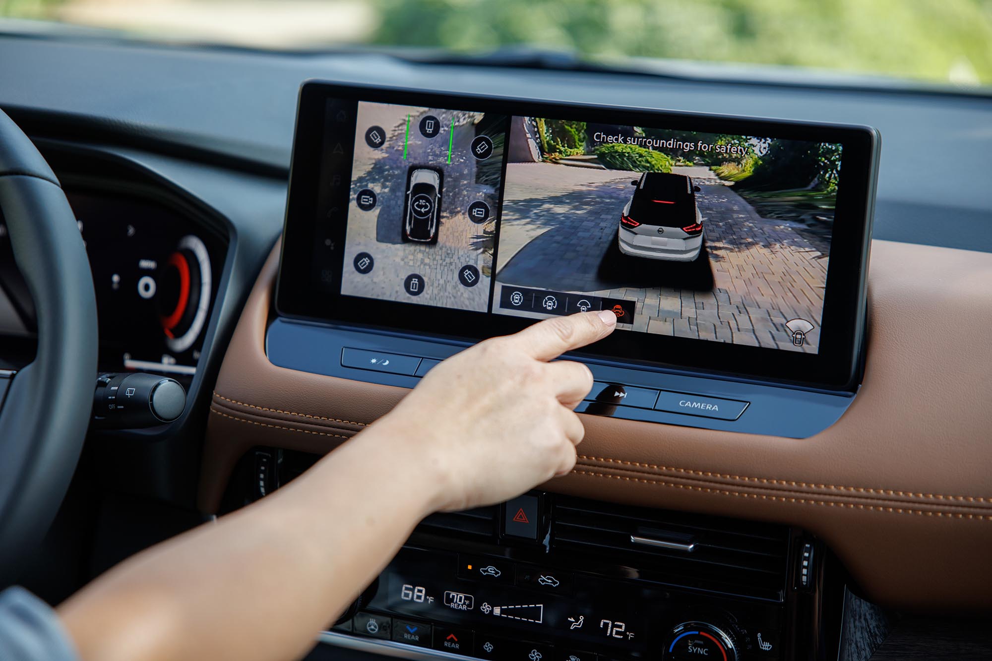
[(575, 464), (574, 412), (592, 388), (561, 353), (610, 334), (616, 317), (557, 317), (479, 342), (434, 367), (374, 429), (436, 489), (434, 508), (466, 509), (523, 493)]

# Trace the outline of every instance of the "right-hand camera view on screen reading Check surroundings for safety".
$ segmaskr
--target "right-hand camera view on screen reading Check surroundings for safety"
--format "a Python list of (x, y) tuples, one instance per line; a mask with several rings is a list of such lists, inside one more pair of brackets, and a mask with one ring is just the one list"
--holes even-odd
[(514, 117), (493, 312), (815, 353), (840, 146)]

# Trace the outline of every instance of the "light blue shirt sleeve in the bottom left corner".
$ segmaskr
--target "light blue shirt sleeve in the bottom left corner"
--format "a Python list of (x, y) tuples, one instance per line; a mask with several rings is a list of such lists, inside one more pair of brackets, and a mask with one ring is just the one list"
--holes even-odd
[(56, 611), (23, 588), (0, 592), (0, 659), (78, 661)]

